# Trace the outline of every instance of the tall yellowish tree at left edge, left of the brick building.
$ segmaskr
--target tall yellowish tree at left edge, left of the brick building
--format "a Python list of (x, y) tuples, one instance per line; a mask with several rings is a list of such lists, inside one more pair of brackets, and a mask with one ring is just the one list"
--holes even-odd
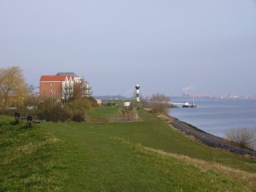
[(0, 69), (0, 102), (3, 103), (3, 108), (23, 105), (28, 92), (20, 67)]

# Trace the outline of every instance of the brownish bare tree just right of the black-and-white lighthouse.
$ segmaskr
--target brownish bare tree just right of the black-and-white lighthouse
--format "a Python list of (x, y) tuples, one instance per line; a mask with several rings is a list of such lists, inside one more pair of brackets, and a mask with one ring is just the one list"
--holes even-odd
[(157, 93), (151, 96), (150, 106), (156, 113), (167, 113), (170, 108), (170, 97)]

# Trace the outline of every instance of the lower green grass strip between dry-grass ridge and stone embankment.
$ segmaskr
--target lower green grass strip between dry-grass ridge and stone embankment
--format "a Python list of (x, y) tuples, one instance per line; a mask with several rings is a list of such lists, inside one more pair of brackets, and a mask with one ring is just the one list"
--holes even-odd
[[(143, 122), (90, 125), (93, 128), (91, 131), (108, 137), (121, 137), (131, 143), (141, 143), (149, 148), (184, 154), (196, 159), (222, 163), (248, 172), (256, 172), (255, 160), (197, 143), (194, 139), (184, 137), (182, 133), (170, 127), (165, 120), (157, 118), (152, 113), (141, 110), (140, 116), (143, 117)], [(84, 125), (81, 125), (81, 129), (83, 127)], [(254, 165), (253, 168), (252, 165)]]

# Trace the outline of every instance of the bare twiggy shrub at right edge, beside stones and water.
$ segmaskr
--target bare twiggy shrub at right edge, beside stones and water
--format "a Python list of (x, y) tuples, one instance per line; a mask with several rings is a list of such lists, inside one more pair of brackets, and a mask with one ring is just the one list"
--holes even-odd
[(226, 137), (241, 148), (253, 148), (256, 143), (256, 129), (232, 129), (226, 132)]

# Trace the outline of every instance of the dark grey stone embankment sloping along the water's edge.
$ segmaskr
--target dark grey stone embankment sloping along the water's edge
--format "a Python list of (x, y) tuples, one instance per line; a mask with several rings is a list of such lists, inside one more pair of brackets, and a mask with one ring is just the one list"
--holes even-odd
[(256, 157), (255, 150), (238, 148), (230, 144), (229, 141), (225, 140), (224, 138), (213, 136), (212, 134), (209, 134), (205, 131), (201, 131), (195, 126), (189, 125), (178, 119), (171, 118), (171, 120), (169, 121), (169, 124), (172, 125), (174, 128), (176, 128), (177, 130), (183, 131), (185, 134), (191, 137), (195, 137), (195, 139), (197, 139), (201, 143), (204, 143), (212, 148), (221, 148), (226, 151), (230, 151), (232, 153), (250, 155), (252, 157)]

